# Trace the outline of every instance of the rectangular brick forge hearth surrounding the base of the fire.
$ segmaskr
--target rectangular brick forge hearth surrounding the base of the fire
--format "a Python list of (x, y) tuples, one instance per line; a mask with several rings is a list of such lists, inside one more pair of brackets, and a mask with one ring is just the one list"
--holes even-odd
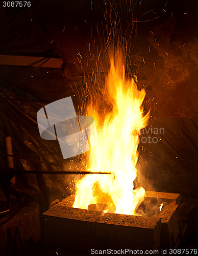
[(156, 217), (104, 214), (72, 208), (70, 196), (42, 215), (43, 242), (80, 250), (176, 248), (181, 238), (180, 195), (146, 191), (145, 202), (164, 203)]

